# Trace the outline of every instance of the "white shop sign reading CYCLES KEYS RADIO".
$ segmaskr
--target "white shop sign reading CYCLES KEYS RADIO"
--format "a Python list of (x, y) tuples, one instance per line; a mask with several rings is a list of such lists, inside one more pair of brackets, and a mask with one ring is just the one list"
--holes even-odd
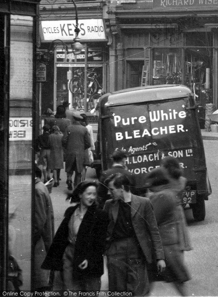
[[(76, 20), (55, 20), (41, 22), (41, 37), (44, 42), (55, 39), (73, 41), (75, 38)], [(79, 20), (79, 38), (84, 40), (106, 41), (104, 23), (102, 19)]]

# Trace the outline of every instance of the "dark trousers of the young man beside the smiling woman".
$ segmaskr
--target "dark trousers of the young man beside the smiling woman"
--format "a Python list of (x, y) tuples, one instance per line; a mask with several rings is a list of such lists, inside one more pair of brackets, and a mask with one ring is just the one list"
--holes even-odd
[(109, 291), (144, 296), (149, 281), (144, 255), (134, 238), (112, 242), (107, 250)]

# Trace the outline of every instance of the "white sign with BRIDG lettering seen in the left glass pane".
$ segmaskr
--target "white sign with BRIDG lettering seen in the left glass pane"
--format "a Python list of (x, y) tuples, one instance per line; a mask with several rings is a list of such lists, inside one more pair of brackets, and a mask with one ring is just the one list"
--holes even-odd
[(32, 140), (32, 117), (9, 118), (9, 141)]

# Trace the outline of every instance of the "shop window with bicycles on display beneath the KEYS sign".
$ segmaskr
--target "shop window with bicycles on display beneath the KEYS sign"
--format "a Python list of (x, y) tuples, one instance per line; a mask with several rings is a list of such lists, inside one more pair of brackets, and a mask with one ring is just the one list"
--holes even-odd
[(87, 64), (85, 54), (85, 50), (76, 56), (70, 49), (56, 51), (56, 105), (68, 101), (69, 108), (81, 111), (85, 110), (85, 104), (87, 111), (96, 105), (102, 90), (102, 49), (88, 48)]

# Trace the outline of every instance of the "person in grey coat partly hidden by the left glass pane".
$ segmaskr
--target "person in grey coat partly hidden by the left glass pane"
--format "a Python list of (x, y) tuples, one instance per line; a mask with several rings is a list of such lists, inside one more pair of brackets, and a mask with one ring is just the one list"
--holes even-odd
[(35, 168), (35, 200), (34, 200), (34, 266), (33, 289), (37, 292), (50, 290), (49, 271), (41, 268), (54, 235), (54, 213), (48, 189), (41, 181), (42, 172)]

